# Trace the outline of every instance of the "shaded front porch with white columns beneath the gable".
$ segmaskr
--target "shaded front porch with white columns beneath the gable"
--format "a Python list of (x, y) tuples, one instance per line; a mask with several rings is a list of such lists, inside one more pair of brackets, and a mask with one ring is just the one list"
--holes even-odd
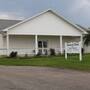
[(9, 35), (3, 37), (3, 48), (0, 55), (9, 55), (12, 51), (18, 55), (49, 54), (54, 49), (56, 54), (64, 53), (65, 42), (80, 42), (81, 36), (54, 35)]

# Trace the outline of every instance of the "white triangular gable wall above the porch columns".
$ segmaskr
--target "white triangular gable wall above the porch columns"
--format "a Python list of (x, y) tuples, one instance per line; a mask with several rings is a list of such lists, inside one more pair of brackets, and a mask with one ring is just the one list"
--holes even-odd
[(10, 29), (9, 34), (80, 36), (82, 32), (55, 14), (47, 12)]

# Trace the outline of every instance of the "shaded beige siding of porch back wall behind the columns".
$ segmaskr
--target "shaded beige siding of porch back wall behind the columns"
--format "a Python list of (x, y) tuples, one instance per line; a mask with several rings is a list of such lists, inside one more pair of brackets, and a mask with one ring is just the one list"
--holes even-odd
[[(23, 50), (27, 49), (29, 52), (33, 52), (35, 50), (35, 36), (29, 35), (10, 35), (9, 36), (9, 48), (13, 51), (16, 49), (18, 51), (24, 52)], [(60, 52), (60, 38), (59, 36), (38, 36), (38, 41), (47, 41), (48, 48), (53, 48)], [(79, 37), (63, 37), (63, 50), (65, 42), (73, 42), (73, 41), (80, 41)], [(6, 40), (4, 39), (4, 48), (6, 48)]]

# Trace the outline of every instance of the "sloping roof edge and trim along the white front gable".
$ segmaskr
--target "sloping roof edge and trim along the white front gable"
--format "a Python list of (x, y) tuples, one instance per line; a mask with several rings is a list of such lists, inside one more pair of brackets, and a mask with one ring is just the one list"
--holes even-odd
[(30, 21), (30, 20), (32, 20), (32, 19), (34, 19), (34, 18), (36, 18), (36, 17), (38, 17), (38, 16), (46, 13), (46, 12), (52, 12), (53, 14), (55, 14), (56, 16), (58, 16), (59, 18), (63, 19), (64, 21), (66, 21), (67, 23), (69, 23), (70, 25), (72, 25), (73, 27), (75, 27), (75, 28), (77, 28), (78, 30), (80, 30), (81, 32), (87, 34), (87, 31), (85, 31), (84, 29), (80, 28), (80, 27), (77, 26), (76, 24), (73, 24), (72, 22), (68, 21), (66, 18), (64, 18), (63, 16), (59, 15), (57, 12), (55, 12), (54, 10), (51, 10), (51, 9), (48, 9), (48, 10), (46, 10), (46, 11), (43, 11), (43, 12), (41, 12), (41, 13), (33, 16), (33, 17), (30, 17), (30, 18), (28, 18), (28, 19), (25, 19), (25, 20), (23, 20), (23, 21), (15, 24), (15, 25), (12, 25), (11, 27), (8, 27), (8, 28), (6, 28), (6, 29), (3, 29), (2, 31), (8, 31), (9, 29), (12, 29), (12, 28), (14, 28), (14, 27), (17, 27), (17, 26), (20, 25), (20, 24), (23, 24), (23, 23), (25, 23), (25, 22), (28, 22), (28, 21)]

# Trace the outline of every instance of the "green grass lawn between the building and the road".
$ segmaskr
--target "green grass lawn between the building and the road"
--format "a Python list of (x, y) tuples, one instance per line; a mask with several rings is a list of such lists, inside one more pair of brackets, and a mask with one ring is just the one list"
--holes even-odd
[(90, 71), (90, 54), (84, 55), (83, 61), (81, 62), (79, 61), (79, 57), (77, 55), (69, 56), (68, 60), (65, 60), (64, 56), (0, 58), (0, 65), (43, 66)]

